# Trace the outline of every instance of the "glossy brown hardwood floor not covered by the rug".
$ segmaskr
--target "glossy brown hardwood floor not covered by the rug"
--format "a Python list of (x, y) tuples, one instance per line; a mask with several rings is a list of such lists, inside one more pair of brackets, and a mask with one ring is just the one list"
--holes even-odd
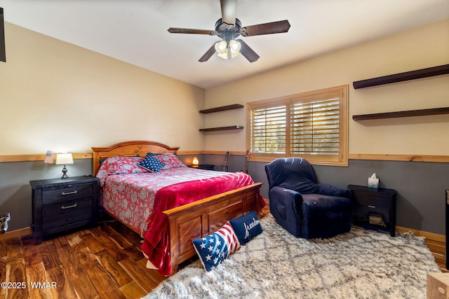
[[(444, 271), (444, 244), (427, 246)], [(30, 235), (1, 240), (0, 299), (140, 298), (165, 279), (146, 262), (139, 235), (117, 221), (39, 245)]]

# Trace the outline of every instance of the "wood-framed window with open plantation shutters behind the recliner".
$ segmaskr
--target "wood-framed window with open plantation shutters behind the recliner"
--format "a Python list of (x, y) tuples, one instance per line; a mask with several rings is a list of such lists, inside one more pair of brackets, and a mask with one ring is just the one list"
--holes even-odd
[(249, 159), (347, 166), (348, 86), (248, 103)]

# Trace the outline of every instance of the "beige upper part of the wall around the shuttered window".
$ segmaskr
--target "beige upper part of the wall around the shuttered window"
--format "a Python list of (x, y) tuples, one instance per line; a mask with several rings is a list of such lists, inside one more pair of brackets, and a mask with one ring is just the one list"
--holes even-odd
[[(449, 20), (210, 88), (205, 108), (349, 84), (350, 154), (449, 155), (449, 114), (352, 120), (357, 114), (449, 106), (448, 75), (375, 88), (352, 87), (353, 81), (441, 64), (449, 64)], [(205, 122), (206, 127), (246, 125), (246, 111), (213, 113), (206, 115)], [(245, 151), (245, 130), (208, 133), (204, 149)]]

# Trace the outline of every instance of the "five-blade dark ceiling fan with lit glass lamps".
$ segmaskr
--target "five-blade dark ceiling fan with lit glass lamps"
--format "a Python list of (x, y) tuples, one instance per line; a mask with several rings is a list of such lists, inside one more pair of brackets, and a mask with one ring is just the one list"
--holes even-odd
[(259, 55), (254, 52), (244, 41), (237, 39), (239, 36), (256, 36), (262, 34), (275, 34), (288, 32), (290, 23), (288, 20), (263, 23), (242, 27), (239, 19), (236, 18), (237, 0), (220, 0), (222, 8), (222, 18), (215, 23), (215, 30), (208, 29), (189, 29), (170, 27), (170, 33), (183, 34), (208, 34), (216, 35), (222, 39), (217, 41), (207, 50), (199, 59), (199, 62), (206, 62), (215, 52), (218, 56), (231, 59), (236, 55), (243, 55), (249, 62), (255, 62), (259, 59)]

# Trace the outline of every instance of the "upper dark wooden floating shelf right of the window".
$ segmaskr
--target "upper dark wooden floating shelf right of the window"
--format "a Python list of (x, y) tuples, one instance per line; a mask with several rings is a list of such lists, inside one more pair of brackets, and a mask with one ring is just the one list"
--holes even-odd
[(439, 76), (449, 74), (449, 64), (440, 65), (438, 67), (429, 67), (427, 69), (418, 69), (416, 71), (406, 71), (405, 73), (382, 76), (361, 81), (354, 81), (352, 85), (354, 89), (369, 88), (371, 86), (396, 83), (419, 78), (427, 78), (431, 76)]

